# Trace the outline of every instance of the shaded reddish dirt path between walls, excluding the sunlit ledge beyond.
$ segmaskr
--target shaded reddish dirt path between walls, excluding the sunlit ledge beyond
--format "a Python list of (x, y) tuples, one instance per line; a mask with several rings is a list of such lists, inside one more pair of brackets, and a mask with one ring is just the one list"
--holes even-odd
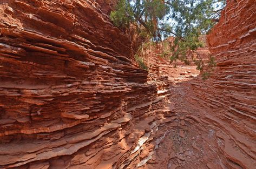
[[(171, 90), (170, 102), (175, 107), (176, 121), (162, 126), (165, 133), (152, 163), (141, 168), (218, 168), (221, 160), (214, 151), (214, 130), (198, 123), (199, 111), (187, 102), (189, 81)], [(156, 135), (157, 137), (157, 135)]]

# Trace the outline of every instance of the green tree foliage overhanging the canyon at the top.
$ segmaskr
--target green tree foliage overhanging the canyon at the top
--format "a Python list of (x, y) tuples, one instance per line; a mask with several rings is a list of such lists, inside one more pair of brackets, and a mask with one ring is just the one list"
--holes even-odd
[[(207, 33), (218, 22), (226, 0), (120, 0), (110, 19), (115, 26), (128, 28), (135, 25), (137, 33), (154, 42), (173, 36), (168, 56), (172, 61), (186, 64), (194, 61), (202, 69), (202, 60), (193, 59), (192, 53), (202, 43), (199, 36)], [(191, 59), (192, 58), (192, 59)]]

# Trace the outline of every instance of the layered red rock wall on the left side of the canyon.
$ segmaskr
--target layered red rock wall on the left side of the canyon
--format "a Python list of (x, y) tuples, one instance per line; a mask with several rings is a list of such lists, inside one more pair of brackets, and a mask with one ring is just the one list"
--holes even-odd
[(129, 164), (174, 111), (130, 39), (95, 1), (2, 2), (0, 168)]

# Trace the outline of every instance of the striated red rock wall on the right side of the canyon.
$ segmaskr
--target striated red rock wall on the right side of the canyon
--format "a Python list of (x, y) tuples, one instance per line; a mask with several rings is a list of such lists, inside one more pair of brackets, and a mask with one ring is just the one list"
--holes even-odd
[(207, 37), (217, 66), (205, 82), (191, 82), (188, 97), (202, 123), (216, 129), (217, 150), (229, 168), (256, 166), (255, 15), (254, 0), (227, 2)]

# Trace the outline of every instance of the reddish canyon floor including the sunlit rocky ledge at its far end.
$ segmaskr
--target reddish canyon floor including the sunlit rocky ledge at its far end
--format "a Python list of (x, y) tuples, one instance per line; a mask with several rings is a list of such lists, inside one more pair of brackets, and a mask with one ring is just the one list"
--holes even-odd
[(213, 138), (215, 130), (198, 123), (201, 111), (187, 100), (193, 80), (200, 72), (192, 65), (169, 67), (166, 71), (169, 83), (172, 84), (168, 89), (169, 104), (163, 108), (172, 110), (165, 119), (169, 122), (160, 125), (152, 134), (151, 139), (155, 141), (150, 141), (143, 148), (140, 162), (134, 162), (128, 168), (194, 169), (223, 166), (221, 154), (216, 151), (218, 145), (215, 145)]

